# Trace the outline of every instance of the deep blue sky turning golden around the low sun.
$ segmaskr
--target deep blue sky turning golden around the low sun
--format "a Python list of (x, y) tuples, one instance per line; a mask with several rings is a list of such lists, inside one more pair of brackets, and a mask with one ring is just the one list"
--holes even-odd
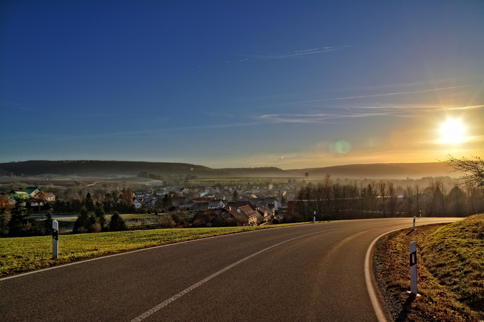
[(482, 1), (3, 1), (0, 162), (484, 156), (483, 62)]

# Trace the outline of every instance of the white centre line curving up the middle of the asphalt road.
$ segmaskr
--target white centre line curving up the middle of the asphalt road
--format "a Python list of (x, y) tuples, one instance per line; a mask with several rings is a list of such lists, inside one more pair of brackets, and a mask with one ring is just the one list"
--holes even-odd
[(249, 255), (245, 258), (242, 258), (240, 261), (237, 261), (225, 268), (222, 268), (221, 270), (219, 270), (218, 272), (215, 272), (213, 273), (212, 275), (210, 275), (209, 277), (203, 279), (203, 280), (200, 280), (199, 282), (193, 284), (192, 286), (184, 289), (183, 291), (181, 291), (180, 293), (176, 294), (176, 295), (173, 295), (172, 297), (170, 297), (169, 299), (167, 299), (166, 301), (158, 304), (157, 306), (155, 306), (154, 308), (151, 308), (149, 309), (148, 311), (144, 312), (143, 314), (139, 315), (138, 317), (134, 318), (133, 320), (131, 320), (131, 322), (140, 322), (144, 319), (146, 319), (147, 317), (149, 317), (151, 314), (153, 314), (154, 312), (158, 311), (159, 309), (161, 308), (164, 308), (166, 307), (168, 304), (170, 304), (171, 302), (175, 301), (177, 298), (183, 296), (184, 294), (187, 294), (188, 292), (192, 291), (193, 289), (197, 288), (198, 286), (202, 285), (203, 283), (205, 283), (206, 281), (209, 281), (209, 280), (212, 280), (215, 276), (219, 275), (219, 274), (222, 274), (223, 272), (225, 272), (227, 269), (230, 269), (240, 263), (242, 263), (243, 261), (246, 261), (248, 260), (249, 258), (251, 257), (254, 257), (258, 254), (260, 254), (261, 252), (265, 252), (267, 250), (270, 250), (272, 247), (276, 247), (276, 246), (279, 246), (281, 244), (284, 244), (288, 241), (291, 241), (291, 240), (294, 240), (294, 239), (298, 239), (298, 238), (302, 238), (302, 237), (306, 237), (306, 236), (310, 236), (310, 235), (314, 235), (314, 234), (319, 234), (319, 233), (324, 233), (324, 232), (327, 232), (327, 231), (332, 231), (332, 230), (338, 230), (338, 229), (344, 229), (344, 228), (351, 228), (351, 227), (358, 227), (358, 226), (350, 226), (350, 227), (341, 227), (341, 228), (334, 228), (334, 229), (329, 229), (329, 230), (322, 230), (322, 231), (317, 231), (315, 233), (311, 233), (311, 234), (307, 234), (307, 235), (302, 235), (302, 236), (298, 236), (298, 237), (295, 237), (295, 238), (291, 238), (291, 239), (287, 239), (287, 240), (284, 240), (284, 241), (281, 241), (280, 243), (277, 243), (275, 245), (272, 245), (272, 246), (269, 246), (267, 248), (264, 248), (263, 250), (261, 251), (258, 251), (258, 252), (255, 252), (253, 253), (252, 255)]

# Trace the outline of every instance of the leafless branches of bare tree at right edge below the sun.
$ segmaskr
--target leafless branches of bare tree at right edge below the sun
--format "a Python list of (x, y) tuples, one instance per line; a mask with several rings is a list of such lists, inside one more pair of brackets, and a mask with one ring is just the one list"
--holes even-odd
[(478, 156), (473, 158), (474, 160), (463, 156), (458, 159), (449, 154), (443, 162), (447, 163), (447, 167), (454, 168), (451, 172), (460, 171), (464, 175), (461, 180), (466, 187), (477, 185), (484, 192), (484, 160)]

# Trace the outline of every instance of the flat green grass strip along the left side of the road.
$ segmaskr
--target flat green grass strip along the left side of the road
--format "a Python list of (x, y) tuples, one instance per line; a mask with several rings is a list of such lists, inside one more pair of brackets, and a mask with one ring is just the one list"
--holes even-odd
[(59, 237), (58, 259), (51, 259), (51, 236), (0, 238), (0, 276), (26, 272), (117, 252), (132, 251), (180, 241), (297, 224), (276, 224), (249, 227), (151, 229), (97, 234), (62, 235)]

